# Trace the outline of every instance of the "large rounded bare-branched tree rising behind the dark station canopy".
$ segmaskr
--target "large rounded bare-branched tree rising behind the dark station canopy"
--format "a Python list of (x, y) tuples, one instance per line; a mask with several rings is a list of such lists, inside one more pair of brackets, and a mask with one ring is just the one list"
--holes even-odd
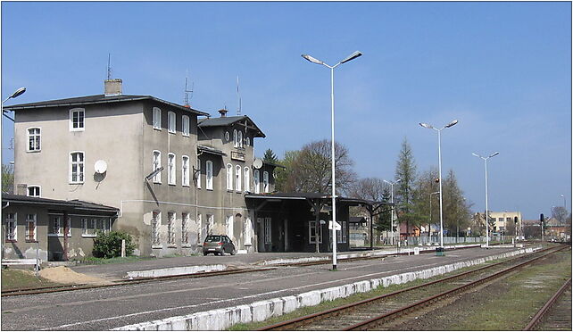
[[(297, 152), (286, 178), (286, 187), (295, 192), (330, 193), (332, 188), (330, 141), (314, 141)], [(336, 195), (347, 193), (356, 174), (353, 160), (344, 145), (335, 143)]]

